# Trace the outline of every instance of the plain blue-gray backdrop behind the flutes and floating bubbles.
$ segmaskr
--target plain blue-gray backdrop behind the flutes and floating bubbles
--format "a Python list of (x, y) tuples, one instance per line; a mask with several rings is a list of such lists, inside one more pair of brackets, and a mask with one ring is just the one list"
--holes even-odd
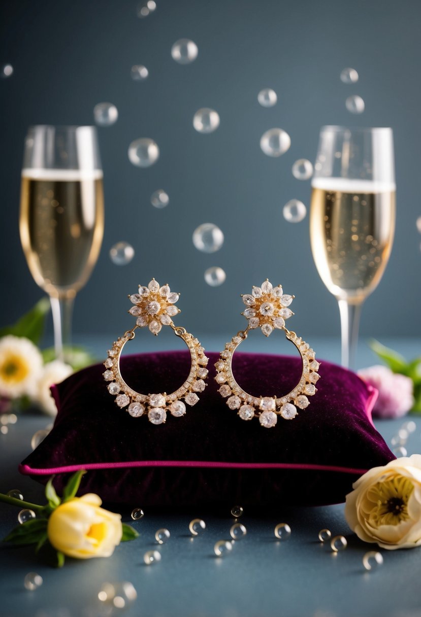
[[(12, 77), (0, 80), (2, 325), (42, 294), (18, 233), (27, 126), (91, 124), (93, 107), (109, 101), (119, 120), (99, 128), (106, 230), (98, 265), (77, 297), (76, 333), (122, 333), (133, 321), (126, 294), (154, 276), (182, 292), (178, 323), (195, 333), (234, 334), (245, 323), (239, 294), (269, 277), (296, 295), (291, 328), (305, 337), (337, 334), (336, 301), (315, 270), (308, 218), (287, 223), (282, 207), (294, 197), (309, 204), (310, 183), (296, 180), (291, 165), (314, 160), (320, 125), (350, 124), (392, 126), (396, 144), (396, 238), (365, 304), (362, 334), (420, 334), (421, 3), (157, 0), (156, 11), (138, 19), (134, 0), (9, 0), (0, 11), (0, 62), (14, 66)], [(170, 49), (184, 37), (199, 55), (181, 66)], [(133, 64), (148, 67), (147, 80), (131, 79)], [(356, 68), (358, 83), (340, 81), (344, 67)], [(278, 94), (270, 109), (257, 102), (265, 87)], [(364, 114), (346, 110), (350, 94), (363, 97)], [(215, 133), (194, 130), (199, 107), (219, 112)], [(292, 141), (278, 159), (259, 147), (273, 126)], [(159, 144), (151, 168), (128, 161), (128, 144), (140, 137)], [(158, 188), (170, 196), (162, 210), (150, 203)], [(203, 222), (223, 230), (219, 252), (193, 247), (193, 230)], [(120, 240), (136, 251), (125, 267), (109, 259)], [(219, 288), (203, 278), (214, 265), (227, 273)]]

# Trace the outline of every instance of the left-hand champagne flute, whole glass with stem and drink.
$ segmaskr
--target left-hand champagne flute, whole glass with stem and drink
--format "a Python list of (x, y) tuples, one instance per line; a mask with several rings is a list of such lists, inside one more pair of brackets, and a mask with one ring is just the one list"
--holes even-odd
[(94, 126), (29, 128), (19, 230), (31, 275), (50, 297), (56, 357), (64, 360), (73, 300), (91, 275), (104, 233)]

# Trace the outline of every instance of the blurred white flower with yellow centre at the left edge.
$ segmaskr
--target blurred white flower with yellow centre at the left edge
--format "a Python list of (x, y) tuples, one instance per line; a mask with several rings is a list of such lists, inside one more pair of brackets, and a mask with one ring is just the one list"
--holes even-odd
[(29, 339), (11, 334), (0, 339), (0, 395), (33, 395), (42, 367), (40, 350)]

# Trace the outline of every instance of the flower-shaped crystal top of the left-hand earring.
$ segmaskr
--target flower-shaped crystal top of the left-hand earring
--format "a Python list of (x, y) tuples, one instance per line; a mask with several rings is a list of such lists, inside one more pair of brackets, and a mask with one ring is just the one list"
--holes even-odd
[(172, 292), (169, 284), (159, 286), (159, 283), (152, 278), (148, 287), (139, 285), (137, 294), (128, 296), (130, 302), (135, 306), (128, 310), (130, 315), (137, 317), (136, 325), (139, 328), (149, 326), (152, 334), (157, 334), (161, 331), (162, 326), (170, 326), (172, 317), (181, 313), (180, 309), (175, 307), (180, 294)]

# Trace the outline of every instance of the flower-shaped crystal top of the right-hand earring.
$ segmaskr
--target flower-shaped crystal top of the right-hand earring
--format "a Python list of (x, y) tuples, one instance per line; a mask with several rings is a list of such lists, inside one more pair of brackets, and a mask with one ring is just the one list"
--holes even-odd
[(249, 322), (249, 329), (261, 328), (265, 336), (274, 328), (285, 328), (285, 320), (294, 315), (290, 306), (295, 296), (284, 294), (280, 285), (273, 287), (267, 279), (261, 287), (252, 288), (251, 294), (241, 294), (247, 309), (241, 315)]

